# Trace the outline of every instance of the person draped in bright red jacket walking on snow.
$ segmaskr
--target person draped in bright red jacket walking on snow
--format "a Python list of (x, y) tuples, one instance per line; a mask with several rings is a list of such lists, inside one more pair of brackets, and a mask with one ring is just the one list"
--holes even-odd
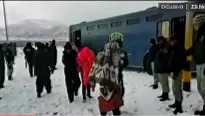
[[(87, 90), (87, 96), (89, 98), (92, 98), (90, 95), (90, 88), (89, 85), (89, 73), (90, 69), (93, 65), (93, 62), (95, 60), (95, 55), (91, 49), (88, 47), (82, 47), (78, 46), (78, 56), (77, 56), (77, 62), (80, 69), (80, 74), (82, 78), (82, 93), (83, 93), (83, 102), (86, 102), (86, 90)], [(94, 87), (92, 87), (94, 91)]]

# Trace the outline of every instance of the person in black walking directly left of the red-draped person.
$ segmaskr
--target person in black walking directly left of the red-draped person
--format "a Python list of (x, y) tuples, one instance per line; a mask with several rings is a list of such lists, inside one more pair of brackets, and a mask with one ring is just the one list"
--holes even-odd
[(76, 58), (77, 52), (72, 49), (71, 43), (67, 42), (64, 46), (62, 62), (65, 66), (65, 83), (70, 103), (74, 101), (74, 95), (78, 95), (78, 89), (80, 87), (80, 78), (77, 70)]

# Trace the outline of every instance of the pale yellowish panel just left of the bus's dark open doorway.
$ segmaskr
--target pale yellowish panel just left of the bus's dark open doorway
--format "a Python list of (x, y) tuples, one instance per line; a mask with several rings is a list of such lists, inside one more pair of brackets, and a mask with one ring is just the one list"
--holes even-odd
[(170, 37), (170, 21), (164, 20), (157, 22), (157, 33), (156, 36), (163, 36), (165, 38)]

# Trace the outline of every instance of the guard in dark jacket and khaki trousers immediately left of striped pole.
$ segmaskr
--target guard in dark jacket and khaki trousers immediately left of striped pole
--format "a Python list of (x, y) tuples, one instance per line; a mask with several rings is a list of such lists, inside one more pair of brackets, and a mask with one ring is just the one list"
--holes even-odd
[(174, 114), (182, 113), (182, 71), (186, 67), (186, 50), (184, 46), (179, 45), (177, 37), (170, 38), (171, 54), (171, 72), (172, 72), (172, 91), (175, 98), (174, 104), (169, 105), (170, 108), (175, 108)]

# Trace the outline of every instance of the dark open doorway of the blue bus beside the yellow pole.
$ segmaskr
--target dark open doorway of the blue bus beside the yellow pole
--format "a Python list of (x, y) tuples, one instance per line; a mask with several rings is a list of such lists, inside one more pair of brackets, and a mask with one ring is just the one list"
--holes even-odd
[(178, 39), (178, 43), (184, 46), (185, 42), (185, 25), (186, 18), (184, 17), (176, 17), (171, 19), (171, 33), (176, 36)]

